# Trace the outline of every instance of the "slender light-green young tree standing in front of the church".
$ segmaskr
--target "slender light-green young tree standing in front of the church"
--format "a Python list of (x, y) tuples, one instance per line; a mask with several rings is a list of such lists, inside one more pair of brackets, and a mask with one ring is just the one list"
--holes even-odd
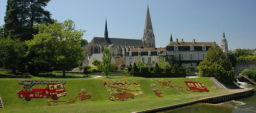
[(104, 47), (104, 51), (102, 52), (102, 70), (105, 73), (105, 75), (108, 78), (108, 74), (110, 74), (111, 71), (111, 52), (108, 50), (108, 47)]

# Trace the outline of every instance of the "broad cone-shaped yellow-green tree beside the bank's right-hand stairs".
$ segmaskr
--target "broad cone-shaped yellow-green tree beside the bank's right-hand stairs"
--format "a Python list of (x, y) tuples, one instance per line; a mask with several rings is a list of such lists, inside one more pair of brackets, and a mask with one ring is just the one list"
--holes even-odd
[(215, 42), (206, 52), (204, 60), (199, 63), (198, 70), (201, 77), (215, 77), (225, 83), (234, 80), (234, 68)]

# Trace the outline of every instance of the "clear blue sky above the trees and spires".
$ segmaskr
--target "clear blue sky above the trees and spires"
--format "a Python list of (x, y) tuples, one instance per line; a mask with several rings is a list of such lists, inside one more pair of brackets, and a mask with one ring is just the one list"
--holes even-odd
[[(0, 0), (0, 26), (4, 24), (6, 1)], [(44, 8), (53, 19), (71, 19), (86, 30), (83, 39), (108, 37), (141, 39), (149, 5), (155, 46), (173, 40), (213, 42), (220, 45), (223, 31), (228, 49), (256, 48), (256, 0), (52, 0)]]

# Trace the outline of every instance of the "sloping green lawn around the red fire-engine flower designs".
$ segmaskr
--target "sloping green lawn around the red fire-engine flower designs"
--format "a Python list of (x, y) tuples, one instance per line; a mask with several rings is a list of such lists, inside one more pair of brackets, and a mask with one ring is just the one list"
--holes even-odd
[[(110, 78), (112, 79), (112, 78)], [(187, 101), (193, 101), (199, 98), (206, 98), (210, 96), (222, 95), (231, 93), (228, 90), (220, 90), (210, 88), (213, 82), (209, 78), (159, 78), (161, 81), (171, 81), (171, 85), (178, 85), (187, 88), (184, 80), (202, 82), (206, 85), (210, 92), (191, 92), (179, 91), (177, 87), (161, 88), (155, 81), (155, 78), (118, 78), (120, 81), (128, 80), (135, 81), (141, 86), (144, 94), (135, 96), (134, 99), (126, 99), (125, 101), (109, 101), (109, 94), (103, 86), (104, 79), (50, 79), (50, 80), (65, 80), (64, 87), (67, 90), (67, 95), (60, 97), (58, 101), (68, 101), (74, 99), (77, 93), (82, 88), (87, 92), (92, 93), (91, 101), (86, 99), (81, 101), (77, 99), (74, 103), (58, 102), (58, 105), (48, 106), (46, 101), (51, 98), (32, 98), (31, 101), (22, 101), (17, 97), (17, 91), (23, 89), (23, 85), (18, 85), (19, 81), (25, 80), (21, 78), (0, 79), (0, 94), (2, 96), (3, 105), (5, 108), (0, 109), (2, 113), (128, 113), (133, 111), (146, 110), (150, 108), (163, 107), (166, 105), (173, 105)], [(30, 78), (26, 80), (49, 80), (43, 78)], [(151, 81), (153, 80), (153, 81)], [(151, 84), (157, 85), (157, 88), (163, 92), (163, 98), (158, 98), (153, 92)], [(33, 88), (46, 88), (47, 85), (34, 85)]]

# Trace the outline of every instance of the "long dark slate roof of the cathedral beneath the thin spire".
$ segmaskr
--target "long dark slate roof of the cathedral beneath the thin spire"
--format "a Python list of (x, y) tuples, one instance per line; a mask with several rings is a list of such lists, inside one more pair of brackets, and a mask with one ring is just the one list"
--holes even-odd
[[(127, 38), (109, 38), (112, 44), (124, 45), (143, 45), (141, 40), (138, 39), (127, 39)], [(104, 37), (93, 37), (90, 43), (107, 43)]]

